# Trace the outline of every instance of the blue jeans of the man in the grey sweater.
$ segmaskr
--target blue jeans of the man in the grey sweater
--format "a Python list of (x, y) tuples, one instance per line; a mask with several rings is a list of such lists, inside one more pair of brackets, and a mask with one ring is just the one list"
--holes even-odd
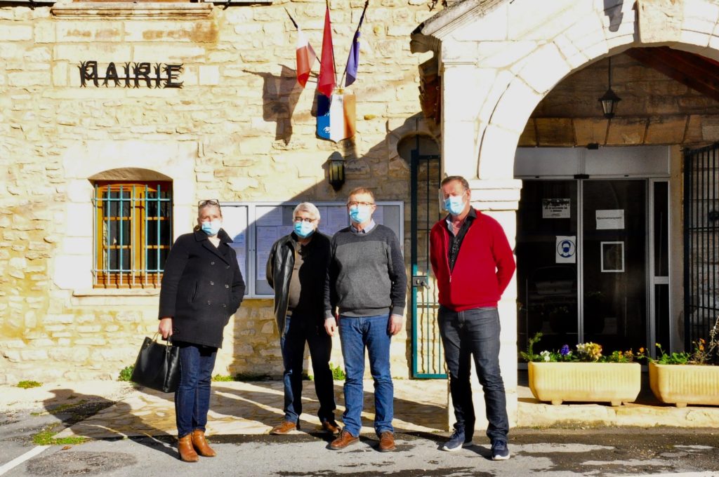
[(394, 432), (394, 386), (390, 374), (389, 315), (340, 316), (339, 341), (344, 358), (344, 430), (357, 437), (362, 428), (364, 405), (365, 347), (375, 380), (375, 432)]

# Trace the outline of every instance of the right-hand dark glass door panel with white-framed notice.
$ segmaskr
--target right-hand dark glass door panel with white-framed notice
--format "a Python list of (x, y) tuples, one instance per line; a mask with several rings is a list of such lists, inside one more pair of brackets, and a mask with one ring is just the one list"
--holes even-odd
[(582, 181), (582, 341), (646, 346), (646, 181)]

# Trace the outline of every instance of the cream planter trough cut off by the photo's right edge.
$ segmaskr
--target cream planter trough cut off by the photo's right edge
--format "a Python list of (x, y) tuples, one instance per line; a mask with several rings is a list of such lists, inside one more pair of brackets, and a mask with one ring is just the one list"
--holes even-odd
[(649, 386), (656, 399), (677, 407), (719, 405), (719, 366), (649, 363)]

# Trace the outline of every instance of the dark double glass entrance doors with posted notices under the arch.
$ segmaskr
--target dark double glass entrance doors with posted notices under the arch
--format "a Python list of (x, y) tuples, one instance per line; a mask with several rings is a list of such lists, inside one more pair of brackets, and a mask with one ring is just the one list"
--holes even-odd
[(647, 181), (525, 180), (517, 221), (518, 346), (647, 345)]

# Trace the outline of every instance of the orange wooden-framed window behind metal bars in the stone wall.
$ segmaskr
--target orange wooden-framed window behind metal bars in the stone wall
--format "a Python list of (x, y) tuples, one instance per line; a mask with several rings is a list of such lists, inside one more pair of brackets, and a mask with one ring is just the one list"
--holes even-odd
[(94, 187), (94, 287), (159, 287), (173, 238), (172, 182)]

